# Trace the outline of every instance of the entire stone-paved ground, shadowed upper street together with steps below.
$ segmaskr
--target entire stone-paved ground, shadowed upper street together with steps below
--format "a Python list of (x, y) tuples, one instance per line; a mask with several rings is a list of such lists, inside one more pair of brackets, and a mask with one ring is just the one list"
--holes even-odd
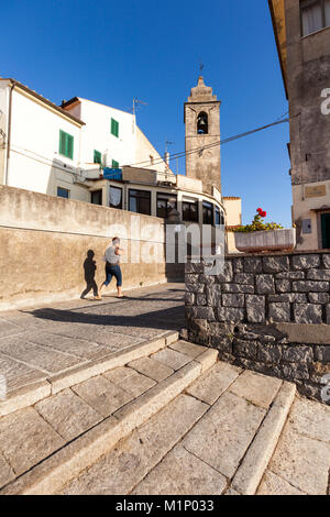
[(178, 340), (183, 295), (1, 315), (1, 494), (329, 494), (330, 408)]

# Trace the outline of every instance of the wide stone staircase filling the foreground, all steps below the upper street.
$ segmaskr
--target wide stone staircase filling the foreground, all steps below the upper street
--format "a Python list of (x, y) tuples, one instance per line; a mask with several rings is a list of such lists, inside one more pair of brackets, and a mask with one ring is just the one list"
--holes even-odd
[(69, 371), (46, 396), (26, 388), (2, 410), (1, 495), (328, 490), (330, 408), (177, 332)]

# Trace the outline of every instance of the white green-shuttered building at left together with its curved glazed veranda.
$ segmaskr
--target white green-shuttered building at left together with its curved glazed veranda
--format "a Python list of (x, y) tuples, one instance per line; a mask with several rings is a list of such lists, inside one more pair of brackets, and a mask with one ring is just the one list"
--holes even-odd
[[(107, 177), (103, 168), (120, 170)], [(0, 184), (162, 218), (175, 208), (186, 223), (237, 224), (241, 207), (188, 176), (172, 173), (134, 114), (79, 97), (58, 107), (0, 79)]]

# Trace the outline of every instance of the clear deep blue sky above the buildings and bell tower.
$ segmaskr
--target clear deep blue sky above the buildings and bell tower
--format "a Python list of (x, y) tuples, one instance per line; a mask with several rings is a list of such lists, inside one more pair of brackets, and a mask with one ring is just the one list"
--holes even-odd
[[(75, 96), (129, 110), (163, 153), (185, 148), (184, 102), (204, 77), (221, 99), (221, 138), (288, 109), (267, 0), (2, 0), (0, 76), (53, 102)], [(288, 124), (222, 146), (222, 190), (290, 226)], [(176, 170), (176, 164), (172, 164)], [(179, 172), (185, 163), (179, 161)]]

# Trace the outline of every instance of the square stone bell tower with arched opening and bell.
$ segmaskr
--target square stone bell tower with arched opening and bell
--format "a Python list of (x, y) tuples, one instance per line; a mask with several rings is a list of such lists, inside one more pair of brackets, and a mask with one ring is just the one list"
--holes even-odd
[(186, 176), (201, 179), (206, 194), (213, 186), (221, 193), (220, 144), (212, 146), (220, 141), (220, 105), (201, 76), (185, 102)]

